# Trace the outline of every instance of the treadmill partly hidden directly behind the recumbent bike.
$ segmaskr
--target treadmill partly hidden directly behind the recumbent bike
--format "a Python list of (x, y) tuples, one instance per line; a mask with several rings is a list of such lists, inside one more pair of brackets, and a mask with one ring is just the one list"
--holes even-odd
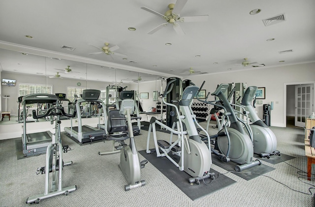
[[(116, 108), (117, 110), (119, 110), (121, 102), (124, 99), (132, 99), (132, 100), (134, 100), (133, 96), (134, 96), (134, 91), (121, 91), (120, 97), (117, 100), (117, 102), (115, 102), (114, 104), (108, 104), (107, 106), (112, 106), (112, 107)], [(134, 104), (134, 107), (135, 107), (134, 108), (134, 112), (135, 112), (136, 117), (140, 117), (140, 112), (139, 112), (139, 108), (138, 108), (137, 104)], [(105, 118), (104, 118), (104, 121), (105, 121)], [(105, 123), (105, 124), (97, 124), (97, 128), (98, 129), (107, 129), (107, 123)], [(132, 125), (133, 135), (134, 136), (140, 135), (140, 130), (141, 130), (141, 122), (140, 122), (140, 119), (137, 119), (137, 124), (136, 125)]]

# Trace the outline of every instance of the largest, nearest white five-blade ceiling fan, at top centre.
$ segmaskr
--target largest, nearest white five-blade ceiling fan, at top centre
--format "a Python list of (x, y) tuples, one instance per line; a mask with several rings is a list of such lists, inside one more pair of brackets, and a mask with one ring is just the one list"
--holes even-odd
[(152, 35), (155, 32), (157, 32), (158, 30), (162, 29), (168, 23), (170, 23), (173, 25), (173, 28), (178, 35), (185, 35), (185, 33), (182, 30), (182, 28), (180, 27), (180, 25), (176, 23), (177, 21), (179, 21), (179, 22), (203, 22), (203, 21), (208, 20), (209, 15), (181, 17), (180, 13), (181, 13), (182, 9), (184, 8), (185, 4), (187, 3), (187, 1), (188, 0), (177, 0), (175, 4), (174, 3), (168, 4), (169, 10), (167, 10), (164, 13), (164, 15), (160, 14), (157, 11), (154, 11), (150, 8), (141, 7), (142, 9), (149, 11), (155, 15), (158, 15), (159, 17), (162, 17), (163, 19), (166, 20), (166, 23), (160, 24), (158, 27), (151, 30), (148, 34)]

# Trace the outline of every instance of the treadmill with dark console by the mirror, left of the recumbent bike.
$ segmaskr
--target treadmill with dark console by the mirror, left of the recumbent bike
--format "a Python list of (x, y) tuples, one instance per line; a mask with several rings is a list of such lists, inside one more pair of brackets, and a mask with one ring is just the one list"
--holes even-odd
[(64, 127), (64, 131), (68, 133), (68, 135), (72, 138), (75, 138), (80, 144), (85, 142), (91, 142), (93, 140), (104, 139), (106, 135), (108, 135), (107, 128), (106, 129), (97, 129), (91, 127), (89, 125), (82, 126), (82, 117), (80, 113), (80, 104), (81, 103), (88, 103), (88, 102), (96, 102), (102, 105), (103, 113), (104, 113), (104, 122), (107, 125), (107, 114), (106, 114), (106, 107), (102, 100), (98, 99), (100, 95), (99, 90), (94, 89), (86, 89), (83, 90), (82, 99), (77, 100), (75, 107), (77, 112), (78, 118), (78, 126), (72, 126), (72, 118), (71, 118), (71, 127)]

